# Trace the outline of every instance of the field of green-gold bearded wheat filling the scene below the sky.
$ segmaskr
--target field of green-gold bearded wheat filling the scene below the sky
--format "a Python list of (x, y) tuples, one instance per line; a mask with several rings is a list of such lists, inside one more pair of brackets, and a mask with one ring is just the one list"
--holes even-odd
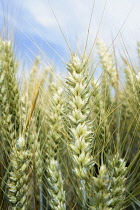
[(36, 55), (19, 78), (13, 39), (1, 36), (2, 210), (140, 208), (140, 71), (127, 53), (118, 65), (98, 34), (93, 49), (70, 50), (59, 76)]

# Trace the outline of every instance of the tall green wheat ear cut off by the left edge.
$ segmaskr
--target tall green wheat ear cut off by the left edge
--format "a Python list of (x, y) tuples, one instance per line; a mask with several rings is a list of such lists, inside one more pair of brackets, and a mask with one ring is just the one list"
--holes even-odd
[[(11, 147), (19, 133), (19, 90), (16, 78), (17, 64), (15, 62), (12, 43), (0, 39), (0, 134), (2, 141), (2, 190), (7, 183), (11, 168), (9, 155)], [(7, 169), (7, 170), (5, 170)], [(5, 202), (4, 202), (5, 204)]]

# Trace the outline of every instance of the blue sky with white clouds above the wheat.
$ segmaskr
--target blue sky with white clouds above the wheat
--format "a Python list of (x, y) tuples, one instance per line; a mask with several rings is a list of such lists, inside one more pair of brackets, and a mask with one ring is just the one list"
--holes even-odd
[[(94, 0), (50, 0), (74, 52), (76, 48), (81, 52), (85, 46), (93, 2)], [(110, 44), (127, 17), (121, 35), (130, 56), (135, 57), (136, 42), (140, 40), (140, 0), (107, 0), (106, 6), (105, 3), (106, 0), (95, 0), (88, 49), (94, 42), (105, 7), (99, 37)], [(47, 42), (68, 60), (69, 50), (48, 0), (0, 0), (1, 29), (4, 16), (7, 25), (14, 28), (16, 51), (20, 53), (21, 58), (30, 62), (34, 59), (33, 54), (39, 54), (41, 48), (45, 56), (61, 68), (61, 59), (48, 47), (45, 43)], [(115, 46), (121, 49), (120, 36), (115, 41)]]

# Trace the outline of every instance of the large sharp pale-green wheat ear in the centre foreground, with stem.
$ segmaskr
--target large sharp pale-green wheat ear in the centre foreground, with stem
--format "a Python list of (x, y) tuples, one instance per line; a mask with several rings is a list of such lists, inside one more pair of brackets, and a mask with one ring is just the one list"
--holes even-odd
[(67, 78), (67, 122), (70, 157), (73, 162), (73, 171), (80, 181), (83, 209), (86, 206), (86, 182), (89, 170), (93, 166), (92, 140), (93, 133), (89, 122), (91, 96), (88, 61), (72, 55), (67, 64), (69, 77)]

